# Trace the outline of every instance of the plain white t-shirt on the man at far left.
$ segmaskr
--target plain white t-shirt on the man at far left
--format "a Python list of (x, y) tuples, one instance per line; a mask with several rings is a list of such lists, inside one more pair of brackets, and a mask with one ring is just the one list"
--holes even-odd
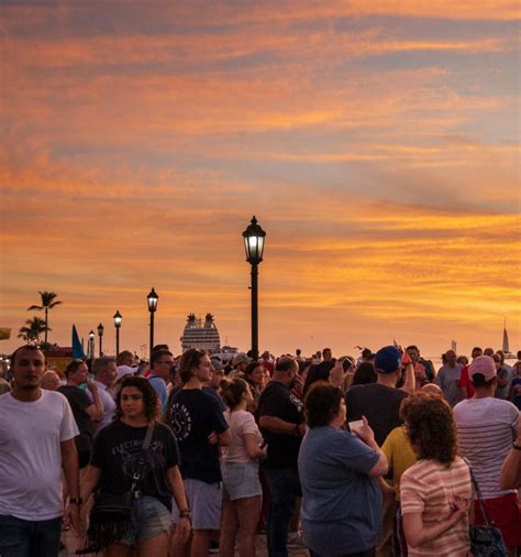
[(78, 433), (62, 393), (42, 390), (35, 402), (0, 396), (0, 514), (24, 521), (63, 514), (59, 444)]

